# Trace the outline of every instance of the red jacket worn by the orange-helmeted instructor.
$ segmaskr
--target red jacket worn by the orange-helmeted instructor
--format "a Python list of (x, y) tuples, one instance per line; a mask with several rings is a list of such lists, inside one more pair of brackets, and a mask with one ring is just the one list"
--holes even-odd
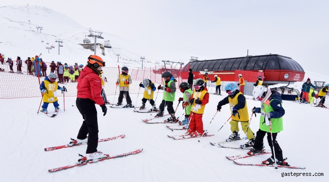
[(98, 105), (105, 104), (101, 96), (101, 78), (89, 67), (86, 66), (85, 69), (81, 71), (76, 88), (77, 98), (91, 99)]

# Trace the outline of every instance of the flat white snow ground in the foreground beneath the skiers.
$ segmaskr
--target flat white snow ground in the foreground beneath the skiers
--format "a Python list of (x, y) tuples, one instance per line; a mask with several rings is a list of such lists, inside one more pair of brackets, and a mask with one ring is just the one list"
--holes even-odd
[[(181, 94), (177, 93), (177, 98)], [(203, 115), (204, 128), (209, 125), (216, 112), (218, 102), (223, 96), (210, 96), (210, 103)], [(113, 96), (108, 98), (113, 100)], [(115, 97), (115, 100), (117, 97)], [(137, 95), (132, 96), (135, 103)], [(138, 98), (138, 106), (141, 103)], [(176, 141), (167, 134), (183, 133), (171, 131), (166, 124), (146, 124), (141, 119), (153, 117), (150, 114), (135, 113), (133, 109), (111, 109), (103, 116), (98, 110), (99, 138), (107, 138), (122, 133), (124, 139), (99, 143), (98, 149), (114, 155), (143, 148), (143, 152), (124, 158), (111, 159), (86, 166), (75, 167), (55, 173), (48, 169), (74, 164), (78, 154), (85, 154), (86, 145), (45, 152), (44, 148), (65, 145), (70, 138), (76, 138), (83, 121), (75, 98), (59, 98), (60, 112), (50, 118), (43, 113), (36, 114), (40, 98), (0, 100), (2, 132), (0, 133), (0, 156), (2, 181), (326, 181), (325, 176), (285, 176), (283, 172), (316, 173), (328, 171), (329, 148), (326, 145), (325, 130), (329, 123), (325, 116), (329, 109), (283, 101), (285, 115), (284, 130), (278, 134), (277, 141), (291, 165), (306, 167), (301, 169), (239, 166), (225, 156), (245, 154), (247, 150), (224, 149), (208, 144), (210, 137)], [(160, 99), (157, 100), (157, 105)], [(247, 100), (249, 110), (259, 107), (258, 101)], [(174, 102), (174, 106), (177, 106)], [(72, 106), (73, 105), (73, 106)], [(49, 106), (49, 111), (54, 107)], [(167, 111), (166, 111), (167, 112)], [(183, 110), (178, 107), (177, 116)], [(223, 106), (209, 127), (215, 133), (230, 117), (229, 106)], [(160, 119), (161, 120), (161, 119)], [(253, 117), (251, 129), (259, 128), (259, 115)], [(239, 132), (244, 136), (243, 132)], [(226, 123), (212, 140), (221, 142), (231, 134), (230, 124)], [(203, 148), (204, 145), (205, 148)], [(232, 144), (233, 145), (233, 144)], [(234, 145), (241, 145), (241, 141)], [(266, 138), (265, 148), (268, 149)], [(269, 155), (240, 159), (240, 162), (260, 163)]]

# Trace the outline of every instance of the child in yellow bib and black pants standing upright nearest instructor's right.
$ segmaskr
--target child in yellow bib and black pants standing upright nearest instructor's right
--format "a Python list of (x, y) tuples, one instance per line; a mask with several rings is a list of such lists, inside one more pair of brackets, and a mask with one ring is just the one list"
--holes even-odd
[(121, 74), (117, 77), (116, 85), (119, 85), (120, 94), (116, 106), (122, 105), (122, 100), (124, 99), (124, 95), (125, 95), (127, 105), (124, 107), (132, 108), (134, 106), (132, 105), (132, 100), (130, 99), (129, 96), (129, 85), (133, 83), (133, 80), (128, 74), (128, 71), (129, 69), (126, 66), (122, 67)]

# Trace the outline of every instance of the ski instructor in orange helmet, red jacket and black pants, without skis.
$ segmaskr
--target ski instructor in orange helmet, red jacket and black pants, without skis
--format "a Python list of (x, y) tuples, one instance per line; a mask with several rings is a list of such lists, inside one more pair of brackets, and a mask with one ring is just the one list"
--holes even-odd
[[(101, 106), (103, 116), (106, 115), (107, 108), (101, 96), (102, 82), (99, 74), (105, 62), (96, 55), (88, 58), (87, 66), (81, 71), (77, 83), (76, 107), (84, 118), (84, 122), (77, 134), (77, 140), (73, 144), (88, 142), (86, 157), (81, 160), (94, 160), (103, 158), (104, 154), (97, 151), (98, 145), (98, 123), (95, 104)], [(88, 138), (87, 138), (88, 134)]]

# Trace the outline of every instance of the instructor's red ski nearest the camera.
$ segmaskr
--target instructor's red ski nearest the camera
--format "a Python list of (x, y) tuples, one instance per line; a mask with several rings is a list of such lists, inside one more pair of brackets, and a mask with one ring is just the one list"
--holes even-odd
[(129, 156), (129, 155), (133, 155), (133, 154), (139, 154), (142, 151), (143, 151), (143, 149), (138, 149), (138, 150), (133, 151), (133, 152), (118, 154), (118, 155), (114, 155), (114, 156), (109, 156), (108, 154), (105, 154), (106, 157), (101, 158), (101, 159), (95, 159), (93, 161), (81, 161), (81, 162), (77, 162), (76, 164), (73, 164), (73, 165), (58, 167), (58, 168), (55, 168), (55, 169), (49, 169), (48, 171), (49, 172), (56, 172), (56, 171), (60, 171), (60, 170), (63, 170), (63, 169), (69, 169), (69, 168), (76, 167), (76, 166), (83, 166), (83, 165), (86, 165), (86, 164), (92, 164), (92, 163), (95, 163), (95, 162), (104, 161), (104, 160), (107, 160), (107, 159), (114, 159), (114, 158), (125, 157), (125, 156)]

